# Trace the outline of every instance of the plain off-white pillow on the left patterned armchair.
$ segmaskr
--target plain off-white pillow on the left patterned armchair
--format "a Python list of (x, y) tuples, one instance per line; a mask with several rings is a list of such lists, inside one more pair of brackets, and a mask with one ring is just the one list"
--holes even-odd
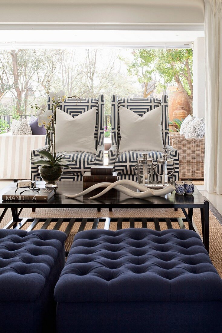
[(82, 113), (75, 119), (56, 109), (56, 152), (88, 152), (95, 149), (96, 108)]

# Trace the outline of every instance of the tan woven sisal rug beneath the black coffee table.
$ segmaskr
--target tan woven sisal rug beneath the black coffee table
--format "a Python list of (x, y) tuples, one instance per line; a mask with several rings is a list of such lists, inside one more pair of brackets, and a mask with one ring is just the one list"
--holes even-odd
[[(2, 213), (3, 209), (0, 208), (0, 214)], [(217, 217), (216, 217), (216, 216)], [(184, 217), (182, 210), (178, 209), (178, 211), (174, 211), (174, 209), (113, 209), (112, 212), (109, 212), (108, 209), (101, 209), (101, 212), (97, 212), (97, 209), (89, 208), (89, 209), (43, 209), (37, 208), (36, 212), (32, 212), (31, 209), (24, 208), (20, 217)], [(12, 219), (11, 211), (8, 210), (5, 214), (2, 222), (0, 223), (0, 229), (3, 228), (10, 220)], [(210, 258), (216, 267), (218, 273), (222, 277), (222, 216), (218, 213), (216, 208), (210, 204), (210, 211), (209, 211), (209, 220), (210, 220)], [(193, 221), (195, 222), (200, 234), (201, 231), (201, 218), (200, 218), (200, 210), (194, 209), (193, 210)], [(30, 223), (29, 223), (30, 224)], [(27, 223), (22, 229), (26, 229), (29, 224)], [(43, 224), (43, 222), (42, 222)], [(41, 223), (37, 225), (35, 229), (41, 228)], [(52, 229), (55, 225), (51, 223), (48, 229)], [(93, 222), (87, 222), (85, 226), (85, 230), (89, 230), (92, 228)], [(188, 223), (185, 223), (186, 228), (188, 228)], [(64, 222), (60, 230), (65, 231), (67, 223)], [(66, 250), (69, 251), (73, 238), (78, 231), (80, 226), (80, 222), (75, 222), (71, 233), (66, 241)], [(179, 228), (177, 222), (172, 222), (173, 228)], [(116, 230), (117, 222), (110, 223), (110, 230)], [(129, 222), (125, 221), (122, 223), (122, 228), (128, 228)], [(141, 222), (135, 222), (136, 228), (141, 228)], [(155, 229), (154, 223), (147, 222), (147, 227), (150, 229)], [(104, 222), (100, 222), (98, 225), (98, 229), (104, 228)], [(167, 229), (165, 222), (160, 222), (161, 230)], [(34, 229), (34, 230), (35, 230)]]

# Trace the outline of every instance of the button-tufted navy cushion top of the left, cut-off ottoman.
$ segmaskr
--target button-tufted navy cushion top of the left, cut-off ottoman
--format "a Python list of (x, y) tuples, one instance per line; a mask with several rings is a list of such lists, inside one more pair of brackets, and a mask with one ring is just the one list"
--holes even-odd
[(65, 240), (56, 230), (0, 230), (0, 301), (36, 300)]

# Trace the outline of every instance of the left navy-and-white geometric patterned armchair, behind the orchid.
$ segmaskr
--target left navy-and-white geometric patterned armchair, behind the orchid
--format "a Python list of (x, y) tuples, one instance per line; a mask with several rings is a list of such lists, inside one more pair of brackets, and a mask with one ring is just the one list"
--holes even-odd
[[(48, 97), (47, 107), (50, 109), (52, 101)], [(82, 98), (76, 103), (75, 98), (66, 98), (61, 103), (60, 109), (73, 118), (81, 115), (84, 112), (91, 110), (96, 107), (96, 125), (95, 125), (95, 148), (96, 154), (88, 152), (59, 152), (57, 156), (63, 155), (64, 160), (69, 161), (69, 168), (64, 168), (62, 177), (60, 180), (82, 180), (83, 174), (91, 169), (91, 166), (99, 165), (102, 166), (104, 163), (104, 95), (99, 95), (97, 98)], [(83, 133), (84, 135), (84, 133)], [(67, 138), (69, 140), (69, 138)], [(39, 157), (40, 151), (48, 151), (48, 146), (32, 150), (31, 158)], [(33, 165), (34, 161), (31, 161), (31, 177), (32, 180), (41, 179), (38, 166)]]

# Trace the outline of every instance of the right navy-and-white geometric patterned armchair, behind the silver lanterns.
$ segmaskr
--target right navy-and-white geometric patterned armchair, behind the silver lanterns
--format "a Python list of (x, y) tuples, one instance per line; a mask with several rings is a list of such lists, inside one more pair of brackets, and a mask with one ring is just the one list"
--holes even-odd
[[(135, 166), (137, 158), (142, 156), (144, 152), (124, 152), (118, 153), (118, 147), (121, 140), (119, 126), (119, 108), (120, 106), (135, 112), (139, 116), (143, 116), (146, 112), (153, 110), (162, 105), (162, 137), (165, 153), (173, 159), (175, 164), (174, 180), (179, 180), (179, 152), (169, 146), (169, 121), (168, 121), (168, 104), (167, 95), (159, 98), (117, 98), (112, 95), (112, 130), (111, 130), (111, 148), (108, 151), (109, 166), (113, 166), (114, 171), (118, 172), (119, 179), (137, 180)], [(137, 133), (135, 133), (135, 136)], [(149, 152), (149, 157), (153, 158), (153, 162), (162, 158), (161, 152)], [(172, 177), (169, 177), (169, 179)], [(159, 176), (154, 175), (154, 179), (159, 179)]]

